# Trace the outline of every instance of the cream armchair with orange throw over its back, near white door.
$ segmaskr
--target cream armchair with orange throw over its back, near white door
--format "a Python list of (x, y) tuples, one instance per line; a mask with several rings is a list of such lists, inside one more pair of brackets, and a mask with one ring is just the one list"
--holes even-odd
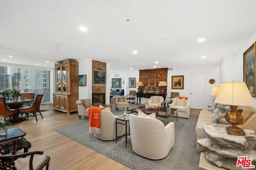
[[(176, 97), (172, 100), (170, 107), (178, 109), (177, 116), (189, 118), (190, 115), (190, 101), (187, 97)], [(176, 115), (174, 115), (176, 116)]]

